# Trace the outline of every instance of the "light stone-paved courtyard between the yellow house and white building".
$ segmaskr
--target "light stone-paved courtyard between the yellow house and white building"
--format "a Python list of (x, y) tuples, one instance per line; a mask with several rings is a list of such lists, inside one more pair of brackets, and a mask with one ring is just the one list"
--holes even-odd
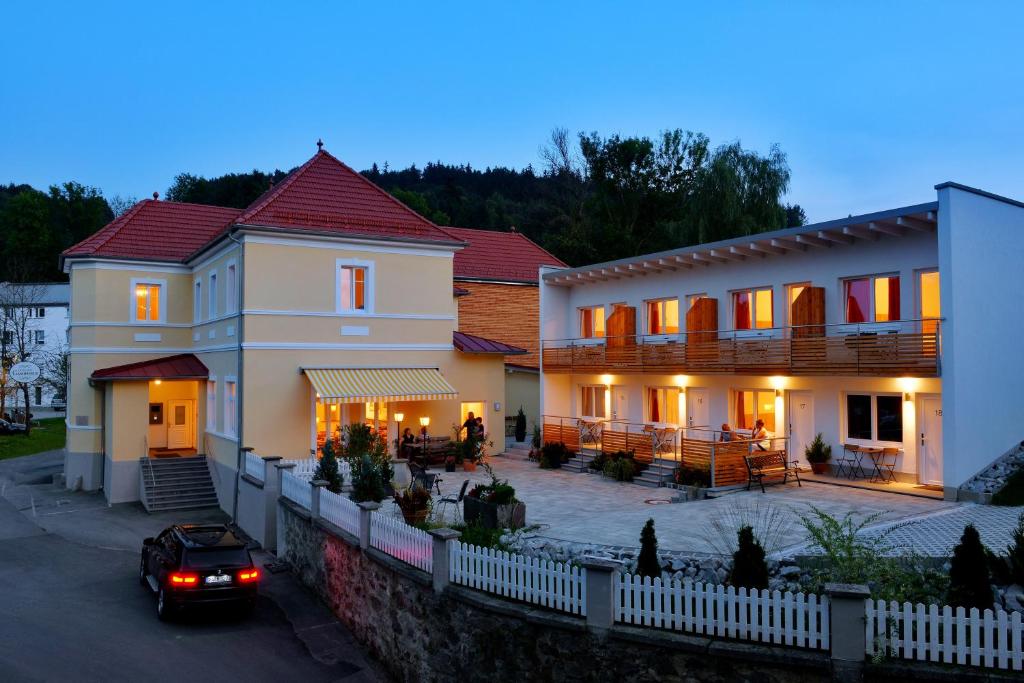
[[(668, 504), (676, 494), (670, 488), (645, 488), (597, 474), (542, 470), (536, 463), (511, 458), (492, 458), (489, 463), (495, 474), (508, 479), (517, 498), (526, 503), (526, 522), (538, 527), (534, 533), (573, 543), (637, 546), (640, 529), (652, 518), (663, 550), (715, 553), (721, 552), (724, 543), (718, 528), (735, 528), (743, 518), (770, 525), (772, 545), (781, 550), (803, 545), (806, 538), (800, 519), (811, 514), (812, 507), (838, 517), (848, 512), (879, 514), (872, 525), (974, 507), (810, 482), (802, 487), (793, 483), (769, 486), (767, 494), (739, 490), (715, 500)], [(460, 470), (442, 476), (445, 496), (458, 494), (467, 478), (470, 486), (488, 480), (479, 468), (471, 474)]]

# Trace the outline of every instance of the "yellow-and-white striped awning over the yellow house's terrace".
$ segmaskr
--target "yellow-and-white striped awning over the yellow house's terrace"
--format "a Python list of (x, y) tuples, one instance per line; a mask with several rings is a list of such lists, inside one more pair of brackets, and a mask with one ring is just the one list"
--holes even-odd
[(459, 393), (436, 368), (304, 368), (321, 400), (436, 400)]

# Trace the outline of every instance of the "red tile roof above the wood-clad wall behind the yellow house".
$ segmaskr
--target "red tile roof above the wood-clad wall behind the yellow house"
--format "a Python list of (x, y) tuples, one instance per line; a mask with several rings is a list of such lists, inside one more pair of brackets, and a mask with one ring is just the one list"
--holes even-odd
[(542, 265), (567, 265), (521, 232), (445, 227), (444, 231), (468, 243), (455, 254), (455, 279), (536, 283)]

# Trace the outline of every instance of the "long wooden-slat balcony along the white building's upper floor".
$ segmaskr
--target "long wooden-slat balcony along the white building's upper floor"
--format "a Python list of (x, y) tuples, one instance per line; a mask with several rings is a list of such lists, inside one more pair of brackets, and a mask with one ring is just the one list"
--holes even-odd
[(940, 326), (899, 321), (556, 339), (541, 348), (546, 373), (937, 377)]

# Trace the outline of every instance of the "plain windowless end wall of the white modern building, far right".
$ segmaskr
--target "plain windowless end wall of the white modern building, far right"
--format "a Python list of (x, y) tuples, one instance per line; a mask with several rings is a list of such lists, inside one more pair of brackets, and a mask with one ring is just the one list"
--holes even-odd
[(956, 486), (1024, 439), (1024, 207), (940, 185), (938, 236), (943, 478)]

